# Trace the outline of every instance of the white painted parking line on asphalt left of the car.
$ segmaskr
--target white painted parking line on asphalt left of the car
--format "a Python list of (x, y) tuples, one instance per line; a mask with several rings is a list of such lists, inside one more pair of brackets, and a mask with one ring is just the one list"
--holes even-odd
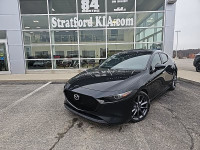
[(48, 86), (49, 84), (51, 84), (52, 82), (48, 82), (46, 84), (44, 84), (43, 86), (37, 88), (36, 90), (34, 90), (33, 92), (25, 95), (24, 97), (20, 98), (19, 100), (15, 101), (14, 103), (10, 104), (9, 106), (7, 106), (6, 108), (0, 110), (0, 114), (6, 112), (7, 110), (15, 107), (17, 104), (19, 104), (20, 102), (24, 101), (25, 99), (27, 99), (28, 97), (32, 96), (33, 94), (35, 94), (36, 92), (38, 92), (39, 90), (43, 89), (44, 87)]

